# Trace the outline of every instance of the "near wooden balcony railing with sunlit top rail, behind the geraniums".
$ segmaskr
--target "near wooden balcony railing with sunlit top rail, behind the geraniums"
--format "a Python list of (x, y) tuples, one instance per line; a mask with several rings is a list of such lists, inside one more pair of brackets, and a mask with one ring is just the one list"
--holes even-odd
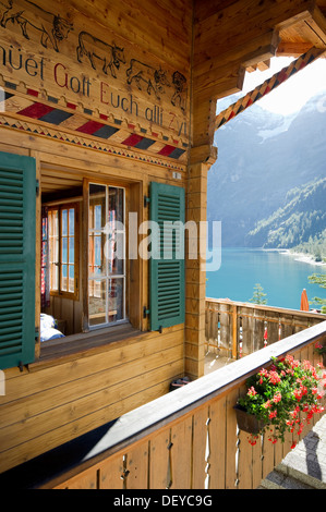
[[(277, 324), (278, 326), (278, 324)], [(39, 485), (57, 489), (254, 489), (290, 451), (292, 436), (251, 446), (233, 406), (270, 357), (316, 365), (326, 321), (267, 345), (120, 417), (83, 462)], [(318, 419), (318, 418), (317, 418)], [(307, 434), (307, 426), (300, 439)], [(298, 436), (297, 436), (298, 440)]]

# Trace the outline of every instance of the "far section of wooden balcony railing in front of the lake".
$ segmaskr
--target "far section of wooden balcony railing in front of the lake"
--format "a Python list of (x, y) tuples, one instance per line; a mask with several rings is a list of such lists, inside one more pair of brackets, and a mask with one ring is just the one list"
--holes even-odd
[(206, 351), (238, 359), (326, 320), (297, 309), (206, 298)]

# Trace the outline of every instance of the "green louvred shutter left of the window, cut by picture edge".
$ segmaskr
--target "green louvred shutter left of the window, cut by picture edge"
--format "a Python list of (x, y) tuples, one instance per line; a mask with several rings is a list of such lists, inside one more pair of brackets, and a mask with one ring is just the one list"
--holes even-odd
[(35, 159), (0, 153), (0, 368), (35, 353)]

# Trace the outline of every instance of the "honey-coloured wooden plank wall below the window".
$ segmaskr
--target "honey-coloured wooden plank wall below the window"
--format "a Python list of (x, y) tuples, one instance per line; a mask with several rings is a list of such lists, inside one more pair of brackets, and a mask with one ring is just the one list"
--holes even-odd
[(0, 400), (0, 472), (167, 392), (183, 374), (183, 329), (31, 370), (7, 379)]

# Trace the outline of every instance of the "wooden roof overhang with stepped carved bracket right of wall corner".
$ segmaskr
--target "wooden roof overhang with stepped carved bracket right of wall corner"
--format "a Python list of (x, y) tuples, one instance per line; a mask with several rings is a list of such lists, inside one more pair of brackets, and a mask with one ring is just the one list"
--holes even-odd
[(216, 100), (241, 92), (246, 71), (326, 50), (326, 0), (195, 0), (194, 14), (193, 146), (208, 159)]

